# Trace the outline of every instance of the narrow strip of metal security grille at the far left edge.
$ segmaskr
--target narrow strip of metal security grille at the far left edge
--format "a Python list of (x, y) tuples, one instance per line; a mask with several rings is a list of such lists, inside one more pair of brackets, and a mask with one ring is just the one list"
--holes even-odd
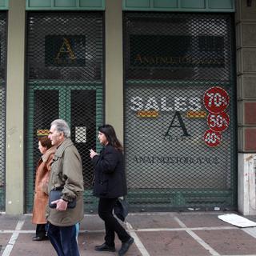
[(6, 12), (0, 12), (0, 210), (6, 201)]

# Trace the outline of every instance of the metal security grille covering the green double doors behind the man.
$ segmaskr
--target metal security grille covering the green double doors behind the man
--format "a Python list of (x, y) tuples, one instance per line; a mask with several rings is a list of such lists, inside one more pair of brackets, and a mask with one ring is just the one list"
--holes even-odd
[(33, 206), (38, 136), (63, 118), (82, 156), (86, 211), (91, 195), (91, 148), (99, 150), (97, 127), (103, 111), (103, 14), (101, 12), (29, 13), (27, 18), (26, 211)]

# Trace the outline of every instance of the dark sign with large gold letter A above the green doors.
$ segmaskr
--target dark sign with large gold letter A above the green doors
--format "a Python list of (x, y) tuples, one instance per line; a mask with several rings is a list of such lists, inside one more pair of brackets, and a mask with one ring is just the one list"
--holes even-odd
[(83, 35), (47, 35), (46, 66), (85, 66), (86, 37)]

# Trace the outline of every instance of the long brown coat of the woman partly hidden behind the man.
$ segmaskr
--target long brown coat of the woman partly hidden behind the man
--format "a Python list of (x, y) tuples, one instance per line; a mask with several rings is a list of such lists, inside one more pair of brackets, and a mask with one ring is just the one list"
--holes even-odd
[(50, 177), (50, 164), (54, 158), (56, 148), (53, 146), (42, 155), (38, 162), (34, 185), (34, 207), (32, 223), (46, 223), (46, 205), (48, 203), (48, 182)]

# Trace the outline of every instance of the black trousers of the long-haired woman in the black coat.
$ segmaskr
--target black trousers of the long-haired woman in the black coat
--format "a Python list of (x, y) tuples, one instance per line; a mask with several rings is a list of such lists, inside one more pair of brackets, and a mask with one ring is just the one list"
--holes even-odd
[(99, 198), (98, 216), (105, 222), (105, 242), (108, 246), (114, 246), (114, 233), (118, 234), (118, 238), (122, 242), (127, 242), (130, 235), (122, 227), (113, 215), (113, 208), (118, 198)]

